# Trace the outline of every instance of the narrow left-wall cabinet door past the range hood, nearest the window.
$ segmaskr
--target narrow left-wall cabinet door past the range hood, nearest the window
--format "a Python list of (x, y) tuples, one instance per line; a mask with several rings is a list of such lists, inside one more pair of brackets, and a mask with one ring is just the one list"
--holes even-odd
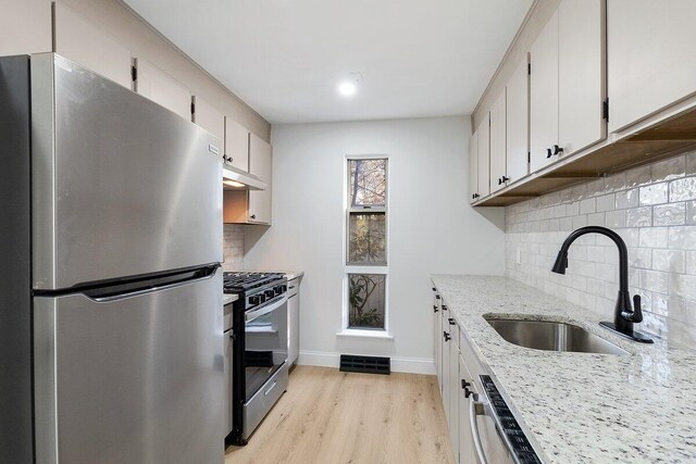
[(249, 191), (249, 222), (271, 224), (271, 184), (273, 179), (273, 149), (254, 134), (249, 136), (249, 173), (268, 185), (265, 190)]

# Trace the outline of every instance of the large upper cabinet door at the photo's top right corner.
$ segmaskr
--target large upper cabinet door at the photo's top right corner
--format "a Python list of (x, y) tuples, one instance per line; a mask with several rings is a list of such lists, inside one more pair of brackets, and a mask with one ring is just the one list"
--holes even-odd
[(696, 1), (609, 0), (609, 131), (696, 92)]

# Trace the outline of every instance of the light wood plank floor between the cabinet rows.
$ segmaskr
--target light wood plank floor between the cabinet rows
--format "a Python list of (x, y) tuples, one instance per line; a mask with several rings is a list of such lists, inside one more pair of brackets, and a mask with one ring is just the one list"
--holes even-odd
[(453, 463), (434, 376), (297, 366), (287, 392), (226, 464)]

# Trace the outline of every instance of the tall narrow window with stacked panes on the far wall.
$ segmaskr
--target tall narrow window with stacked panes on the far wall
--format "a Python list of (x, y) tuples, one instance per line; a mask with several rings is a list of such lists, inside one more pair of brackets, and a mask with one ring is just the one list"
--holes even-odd
[(387, 159), (347, 162), (345, 327), (386, 330)]

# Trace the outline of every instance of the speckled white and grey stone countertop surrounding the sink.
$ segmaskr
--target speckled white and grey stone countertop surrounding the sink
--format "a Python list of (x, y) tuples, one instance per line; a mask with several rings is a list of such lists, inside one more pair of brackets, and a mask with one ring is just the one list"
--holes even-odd
[[(696, 462), (696, 351), (624, 340), (601, 328), (599, 315), (505, 277), (432, 280), (544, 462)], [(572, 323), (630, 354), (518, 347), (487, 313)]]

